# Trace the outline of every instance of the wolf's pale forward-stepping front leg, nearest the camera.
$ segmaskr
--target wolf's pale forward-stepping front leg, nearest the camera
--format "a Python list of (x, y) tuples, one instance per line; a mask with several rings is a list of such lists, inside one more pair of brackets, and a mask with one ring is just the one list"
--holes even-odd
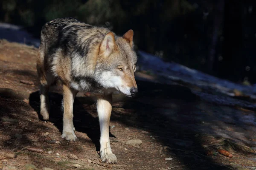
[(100, 156), (102, 161), (115, 164), (116, 156), (112, 153), (109, 141), (109, 121), (112, 111), (112, 95), (102, 96), (97, 101), (100, 126)]

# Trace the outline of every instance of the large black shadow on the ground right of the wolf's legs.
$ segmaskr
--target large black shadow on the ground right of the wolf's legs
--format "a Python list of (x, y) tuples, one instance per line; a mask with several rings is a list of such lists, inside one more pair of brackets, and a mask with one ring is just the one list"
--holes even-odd
[(140, 93), (123, 105), (125, 109), (134, 110), (133, 117), (128, 115), (120, 118), (116, 116), (118, 113), (113, 113), (111, 120), (151, 132), (162, 146), (168, 148), (166, 150), (170, 156), (187, 165), (177, 169), (228, 169), (206, 157), (203, 141), (195, 137), (197, 129), (193, 129), (193, 126), (202, 124), (194, 118), (198, 105), (201, 104), (198, 96), (180, 85), (144, 81), (137, 81), (137, 85)]

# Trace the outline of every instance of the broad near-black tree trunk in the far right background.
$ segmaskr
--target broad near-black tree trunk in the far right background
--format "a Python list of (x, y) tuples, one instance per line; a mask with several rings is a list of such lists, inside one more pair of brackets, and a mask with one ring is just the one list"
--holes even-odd
[(218, 62), (218, 75), (231, 81), (242, 81), (245, 68), (242, 16), (243, 1), (225, 0), (223, 60)]

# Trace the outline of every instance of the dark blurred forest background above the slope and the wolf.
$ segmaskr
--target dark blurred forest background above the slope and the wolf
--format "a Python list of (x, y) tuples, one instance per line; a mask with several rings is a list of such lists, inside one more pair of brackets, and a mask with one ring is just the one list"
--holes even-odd
[(116, 34), (134, 30), (136, 48), (234, 82), (256, 83), (253, 0), (1, 0), (0, 21), (39, 38), (58, 17)]

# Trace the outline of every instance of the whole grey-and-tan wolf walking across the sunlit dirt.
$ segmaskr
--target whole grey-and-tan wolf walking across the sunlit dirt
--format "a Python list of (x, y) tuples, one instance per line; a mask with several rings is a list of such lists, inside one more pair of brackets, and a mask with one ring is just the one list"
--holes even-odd
[(40, 113), (49, 119), (48, 91), (57, 80), (63, 89), (63, 131), (61, 137), (76, 141), (73, 125), (73, 102), (79, 91), (100, 94), (97, 112), (100, 125), (100, 156), (102, 161), (116, 163), (109, 140), (112, 93), (126, 96), (138, 92), (134, 78), (137, 55), (133, 30), (122, 37), (104, 27), (91, 26), (75, 18), (58, 18), (41, 29), (37, 59), (40, 79)]

